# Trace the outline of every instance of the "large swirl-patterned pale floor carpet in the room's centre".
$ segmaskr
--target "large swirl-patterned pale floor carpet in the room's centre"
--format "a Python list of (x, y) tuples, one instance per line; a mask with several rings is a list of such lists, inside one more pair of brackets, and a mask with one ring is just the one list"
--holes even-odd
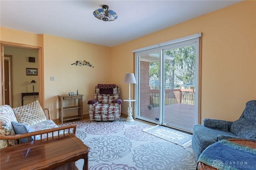
[[(89, 170), (195, 170), (192, 148), (184, 148), (142, 130), (151, 126), (125, 119), (76, 121), (76, 136), (90, 147)], [(67, 125), (63, 124), (63, 125)], [(60, 125), (60, 126), (63, 126)], [(84, 160), (76, 165), (82, 170)]]

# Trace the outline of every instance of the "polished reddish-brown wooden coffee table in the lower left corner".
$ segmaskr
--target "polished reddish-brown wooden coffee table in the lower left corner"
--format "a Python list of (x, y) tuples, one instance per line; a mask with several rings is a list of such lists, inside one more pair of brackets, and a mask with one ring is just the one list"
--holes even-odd
[(0, 149), (0, 169), (77, 169), (74, 162), (84, 159), (83, 170), (88, 170), (89, 150), (74, 134), (32, 141)]

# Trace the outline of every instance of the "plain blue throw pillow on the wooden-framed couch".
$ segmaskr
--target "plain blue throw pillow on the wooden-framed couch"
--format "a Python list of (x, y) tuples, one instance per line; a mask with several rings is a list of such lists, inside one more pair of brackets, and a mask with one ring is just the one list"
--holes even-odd
[[(21, 124), (21, 123), (15, 122), (15, 121), (12, 121), (12, 126), (13, 126), (15, 134), (34, 132), (34, 130), (31, 129), (30, 127), (28, 127), (27, 125)], [(37, 137), (36, 137), (36, 139), (37, 139)], [(34, 141), (34, 137), (30, 137), (30, 141)], [(28, 142), (28, 138), (21, 139), (21, 143), (27, 143), (27, 142)]]

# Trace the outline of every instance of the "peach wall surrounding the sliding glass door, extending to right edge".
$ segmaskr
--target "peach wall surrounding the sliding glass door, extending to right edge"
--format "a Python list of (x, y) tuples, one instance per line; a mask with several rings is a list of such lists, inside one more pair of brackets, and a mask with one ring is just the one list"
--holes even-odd
[[(128, 98), (126, 72), (134, 71), (133, 49), (202, 32), (201, 118), (234, 121), (248, 100), (256, 100), (256, 1), (244, 1), (111, 49), (112, 82)], [(133, 98), (133, 96), (132, 96)], [(126, 113), (128, 104), (122, 105)]]

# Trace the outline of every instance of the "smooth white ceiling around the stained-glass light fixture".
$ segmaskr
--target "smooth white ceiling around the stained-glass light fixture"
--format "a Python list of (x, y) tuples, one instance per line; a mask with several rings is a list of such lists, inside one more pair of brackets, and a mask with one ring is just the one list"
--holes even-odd
[[(0, 26), (114, 47), (241, 0), (0, 0)], [(118, 15), (101, 21), (108, 5)]]

